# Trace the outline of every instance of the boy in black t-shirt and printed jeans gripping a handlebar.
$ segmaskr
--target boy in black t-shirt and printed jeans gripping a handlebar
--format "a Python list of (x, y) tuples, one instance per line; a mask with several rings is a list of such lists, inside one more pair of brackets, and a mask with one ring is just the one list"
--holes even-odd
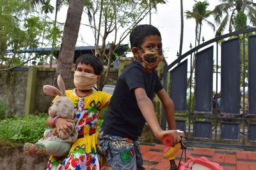
[[(174, 118), (173, 102), (163, 89), (156, 67), (162, 60), (161, 34), (152, 25), (138, 25), (130, 35), (131, 62), (118, 77), (108, 111), (99, 132), (98, 144), (113, 169), (144, 169), (138, 137), (145, 122), (161, 141), (171, 134), (180, 141)], [(157, 121), (152, 99), (156, 92), (163, 103), (170, 131), (163, 131)]]

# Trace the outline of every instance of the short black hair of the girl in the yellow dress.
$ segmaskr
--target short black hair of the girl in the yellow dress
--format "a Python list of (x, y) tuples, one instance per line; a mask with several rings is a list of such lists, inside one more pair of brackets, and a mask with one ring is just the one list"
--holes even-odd
[(98, 57), (92, 55), (92, 53), (86, 53), (86, 54), (83, 54), (80, 57), (78, 57), (76, 60), (76, 69), (77, 69), (77, 65), (79, 63), (90, 64), (94, 69), (94, 72), (95, 72), (94, 74), (96, 74), (96, 75), (100, 75), (100, 73), (103, 70), (102, 61)]

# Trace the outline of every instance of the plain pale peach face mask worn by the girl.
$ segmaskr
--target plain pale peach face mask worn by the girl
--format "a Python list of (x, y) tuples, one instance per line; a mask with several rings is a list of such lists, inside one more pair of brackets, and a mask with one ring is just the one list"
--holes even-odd
[(98, 76), (93, 73), (75, 71), (74, 84), (79, 90), (90, 90), (97, 82)]

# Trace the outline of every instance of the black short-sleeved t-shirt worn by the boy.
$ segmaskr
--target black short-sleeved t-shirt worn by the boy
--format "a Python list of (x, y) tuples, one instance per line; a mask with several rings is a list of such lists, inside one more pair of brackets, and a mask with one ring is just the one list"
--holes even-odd
[(117, 79), (102, 124), (102, 130), (106, 134), (132, 140), (138, 139), (145, 125), (145, 118), (138, 107), (134, 94), (134, 89), (138, 87), (145, 89), (151, 100), (154, 97), (154, 92), (163, 89), (156, 70), (147, 73), (143, 71), (138, 62), (133, 61)]

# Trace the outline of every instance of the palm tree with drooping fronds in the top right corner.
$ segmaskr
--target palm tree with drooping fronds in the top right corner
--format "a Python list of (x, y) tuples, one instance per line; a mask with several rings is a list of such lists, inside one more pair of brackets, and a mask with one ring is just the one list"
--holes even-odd
[(246, 13), (248, 20), (256, 26), (256, 3), (253, 0), (220, 0), (221, 4), (215, 6), (213, 15), (215, 21), (220, 24), (215, 36), (220, 36), (228, 25), (228, 31), (234, 30), (234, 20), (237, 13)]

